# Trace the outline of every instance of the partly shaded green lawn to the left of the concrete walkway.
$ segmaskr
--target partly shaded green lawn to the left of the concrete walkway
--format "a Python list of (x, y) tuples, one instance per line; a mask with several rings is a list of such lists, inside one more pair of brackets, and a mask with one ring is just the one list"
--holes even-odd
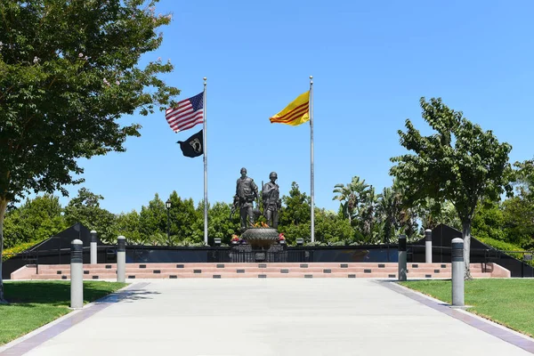
[[(84, 281), (84, 302), (93, 302), (125, 286), (125, 283)], [(0, 304), (0, 345), (70, 312), (69, 281), (7, 281), (4, 297), (9, 304)]]

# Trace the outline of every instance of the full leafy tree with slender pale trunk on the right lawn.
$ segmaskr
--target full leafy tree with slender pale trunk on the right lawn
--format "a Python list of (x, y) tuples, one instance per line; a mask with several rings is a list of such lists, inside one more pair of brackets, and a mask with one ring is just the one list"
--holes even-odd
[(463, 117), (461, 111), (449, 109), (441, 98), (421, 98), (423, 118), (436, 134), (422, 136), (406, 120), (406, 132), (399, 130), (401, 145), (415, 154), (392, 158), (397, 163), (391, 174), (405, 187), (411, 201), (425, 198), (449, 200), (462, 222), (465, 278), (471, 278), (469, 252), (471, 224), (479, 203), (497, 201), (511, 191), (511, 166), (508, 153), (512, 147), (499, 143), (491, 131), (483, 131)]

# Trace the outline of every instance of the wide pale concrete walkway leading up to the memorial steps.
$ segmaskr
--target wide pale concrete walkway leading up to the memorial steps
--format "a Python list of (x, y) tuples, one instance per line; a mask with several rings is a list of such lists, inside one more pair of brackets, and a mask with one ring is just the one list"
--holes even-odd
[[(77, 312), (70, 318), (79, 322), (56, 336), (48, 328), (53, 337), (24, 354), (531, 355), (391, 282), (164, 279), (137, 287), (86, 319)], [(24, 343), (0, 355), (22, 354)]]

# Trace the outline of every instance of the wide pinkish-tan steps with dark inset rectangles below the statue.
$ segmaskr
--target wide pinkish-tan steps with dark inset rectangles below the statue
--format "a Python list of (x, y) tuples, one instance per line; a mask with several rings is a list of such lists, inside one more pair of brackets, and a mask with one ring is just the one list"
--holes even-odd
[[(509, 271), (494, 263), (472, 263), (475, 278), (509, 277)], [(116, 264), (84, 264), (85, 279), (117, 279)], [(316, 278), (349, 275), (355, 278), (397, 278), (397, 263), (126, 263), (126, 275), (137, 279), (162, 278)], [(508, 275), (503, 274), (508, 272)], [(69, 279), (69, 264), (24, 266), (12, 273), (12, 279)], [(392, 277), (394, 276), (394, 277)], [(408, 263), (410, 279), (450, 279), (450, 263)], [(215, 277), (218, 278), (218, 277)]]

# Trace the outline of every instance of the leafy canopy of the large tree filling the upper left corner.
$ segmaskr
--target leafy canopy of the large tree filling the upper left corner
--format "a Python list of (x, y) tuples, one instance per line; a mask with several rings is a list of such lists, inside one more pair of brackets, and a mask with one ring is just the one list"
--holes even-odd
[(78, 158), (124, 151), (140, 135), (119, 117), (174, 104), (178, 89), (158, 78), (170, 62), (138, 64), (171, 21), (154, 14), (157, 2), (0, 2), (0, 254), (8, 203), (28, 191), (67, 194), (83, 181), (72, 176), (83, 173)]

